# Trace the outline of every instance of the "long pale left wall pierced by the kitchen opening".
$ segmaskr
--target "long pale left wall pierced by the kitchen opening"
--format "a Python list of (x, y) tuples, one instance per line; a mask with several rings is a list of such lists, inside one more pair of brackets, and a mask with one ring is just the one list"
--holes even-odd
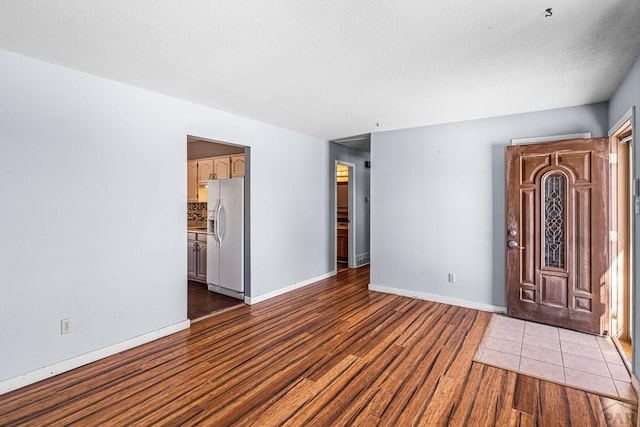
[(187, 134), (251, 147), (251, 295), (333, 269), (327, 141), (6, 51), (0, 122), (0, 381), (185, 321)]

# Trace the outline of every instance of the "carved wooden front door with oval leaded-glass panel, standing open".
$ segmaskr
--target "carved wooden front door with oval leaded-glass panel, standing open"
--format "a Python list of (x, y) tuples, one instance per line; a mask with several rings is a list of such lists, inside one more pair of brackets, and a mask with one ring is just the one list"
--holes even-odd
[(508, 314), (606, 334), (609, 140), (506, 149)]

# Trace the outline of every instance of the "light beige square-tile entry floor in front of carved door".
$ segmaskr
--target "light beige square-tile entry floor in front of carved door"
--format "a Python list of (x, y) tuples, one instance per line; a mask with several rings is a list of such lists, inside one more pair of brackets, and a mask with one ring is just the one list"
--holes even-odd
[(636, 402), (631, 377), (609, 337), (494, 315), (476, 362)]

